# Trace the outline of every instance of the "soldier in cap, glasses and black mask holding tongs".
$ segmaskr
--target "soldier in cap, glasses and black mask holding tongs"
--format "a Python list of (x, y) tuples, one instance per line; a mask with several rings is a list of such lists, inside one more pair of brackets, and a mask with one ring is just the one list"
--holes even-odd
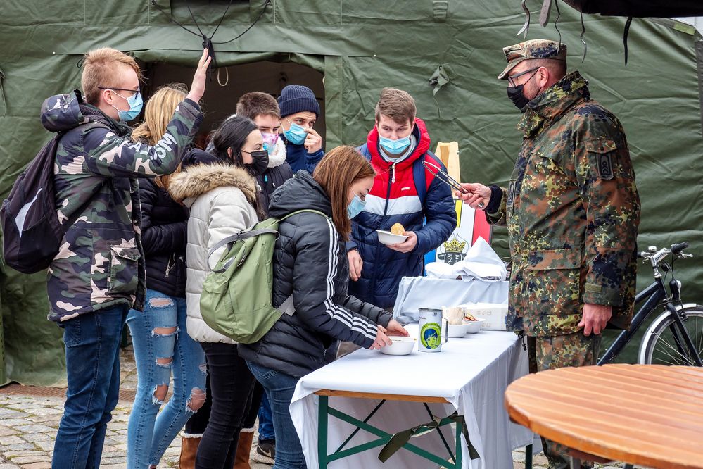
[[(509, 330), (526, 334), (531, 372), (594, 365), (607, 323), (629, 327), (640, 201), (625, 132), (590, 99), (566, 46), (544, 39), (503, 49), (508, 96), (524, 134), (509, 187), (466, 184), (464, 201), (507, 225)], [(566, 448), (545, 445), (550, 468)]]

